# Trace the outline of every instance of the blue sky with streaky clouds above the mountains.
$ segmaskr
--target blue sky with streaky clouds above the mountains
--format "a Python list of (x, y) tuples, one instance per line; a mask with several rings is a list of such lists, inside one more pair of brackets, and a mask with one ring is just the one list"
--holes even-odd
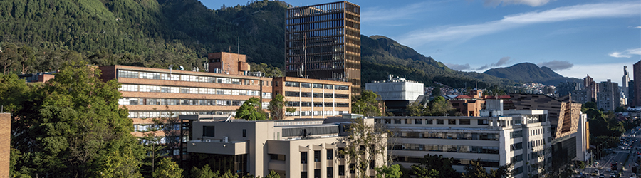
[[(248, 1), (201, 0), (209, 9)], [(333, 1), (285, 0), (293, 6)], [(516, 63), (621, 84), (641, 60), (640, 0), (353, 0), (361, 33), (382, 35), (449, 68), (484, 72)]]

